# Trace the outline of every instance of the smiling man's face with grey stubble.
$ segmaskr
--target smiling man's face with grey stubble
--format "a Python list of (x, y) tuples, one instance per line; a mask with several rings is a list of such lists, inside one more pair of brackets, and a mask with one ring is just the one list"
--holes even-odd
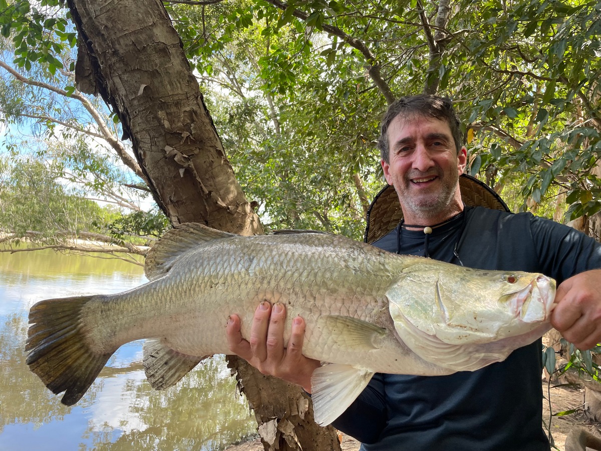
[(382, 161), (382, 168), (386, 182), (397, 191), (407, 223), (444, 221), (463, 209), (458, 182), (467, 152), (462, 147), (457, 155), (446, 121), (397, 116), (388, 128), (388, 147), (389, 162)]

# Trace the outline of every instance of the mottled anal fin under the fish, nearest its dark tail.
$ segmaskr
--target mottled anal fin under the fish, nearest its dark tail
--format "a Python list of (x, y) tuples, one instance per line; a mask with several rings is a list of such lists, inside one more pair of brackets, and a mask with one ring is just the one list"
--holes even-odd
[(197, 357), (182, 354), (165, 345), (162, 340), (151, 339), (144, 342), (144, 372), (151, 387), (165, 390), (175, 385), (208, 355)]

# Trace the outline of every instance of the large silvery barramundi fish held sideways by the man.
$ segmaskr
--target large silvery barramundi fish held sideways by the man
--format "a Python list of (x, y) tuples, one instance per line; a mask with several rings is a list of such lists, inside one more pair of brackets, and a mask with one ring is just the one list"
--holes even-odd
[[(447, 375), (504, 360), (551, 328), (555, 281), (399, 256), (342, 236), (238, 236), (184, 224), (148, 252), (148, 283), (112, 295), (47, 299), (29, 313), (27, 364), (73, 405), (124, 343), (147, 339), (144, 368), (157, 389), (201, 360), (228, 354), (230, 314), (248, 339), (264, 300), (297, 315), (303, 352), (324, 364), (312, 378), (315, 418), (335, 420), (375, 372)], [(210, 389), (207, 387), (207, 390)]]

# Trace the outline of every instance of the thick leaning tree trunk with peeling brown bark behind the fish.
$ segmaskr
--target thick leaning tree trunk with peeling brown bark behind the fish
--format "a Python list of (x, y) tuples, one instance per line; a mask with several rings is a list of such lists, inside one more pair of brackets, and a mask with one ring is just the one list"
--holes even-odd
[[(234, 177), (171, 20), (158, 0), (69, 0), (79, 32), (78, 86), (99, 92), (123, 124), (157, 204), (172, 224), (263, 233)], [(225, 331), (224, 331), (225, 333)], [(340, 449), (299, 387), (230, 359), (265, 449)]]

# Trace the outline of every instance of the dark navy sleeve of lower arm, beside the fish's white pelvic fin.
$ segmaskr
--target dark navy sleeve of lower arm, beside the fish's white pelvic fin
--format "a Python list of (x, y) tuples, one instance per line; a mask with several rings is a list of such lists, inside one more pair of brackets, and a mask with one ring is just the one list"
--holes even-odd
[(355, 399), (332, 426), (361, 443), (375, 443), (386, 426), (386, 395), (384, 378), (376, 373), (365, 390)]

